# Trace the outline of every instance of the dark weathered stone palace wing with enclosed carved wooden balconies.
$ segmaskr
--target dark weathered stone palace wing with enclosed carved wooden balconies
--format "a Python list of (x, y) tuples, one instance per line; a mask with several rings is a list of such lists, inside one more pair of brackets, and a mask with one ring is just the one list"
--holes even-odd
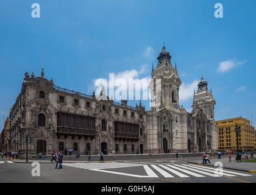
[[(43, 73), (43, 71), (42, 71)], [(136, 154), (146, 151), (146, 112), (144, 107), (127, 106), (56, 87), (51, 81), (25, 74), (21, 93), (10, 110), (12, 151), (26, 154), (26, 135), (34, 137), (28, 144), (29, 155), (73, 149), (85, 154)], [(115, 130), (115, 122), (123, 129)]]

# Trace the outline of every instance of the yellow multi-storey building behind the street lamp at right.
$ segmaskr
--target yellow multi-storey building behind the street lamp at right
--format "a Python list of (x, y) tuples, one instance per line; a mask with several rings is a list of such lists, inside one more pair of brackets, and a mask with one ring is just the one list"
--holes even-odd
[(227, 149), (236, 151), (236, 123), (241, 129), (238, 137), (240, 151), (255, 151), (255, 128), (250, 125), (248, 119), (238, 117), (215, 122), (218, 131), (218, 151), (225, 151)]

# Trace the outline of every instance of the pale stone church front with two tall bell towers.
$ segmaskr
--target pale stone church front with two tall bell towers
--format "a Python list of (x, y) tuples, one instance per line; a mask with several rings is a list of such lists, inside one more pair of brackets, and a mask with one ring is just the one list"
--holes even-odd
[(212, 93), (202, 78), (194, 94), (193, 111), (187, 113), (179, 104), (181, 80), (171, 55), (163, 46), (158, 64), (152, 67), (151, 110), (147, 112), (148, 151), (209, 152), (217, 150), (216, 124)]

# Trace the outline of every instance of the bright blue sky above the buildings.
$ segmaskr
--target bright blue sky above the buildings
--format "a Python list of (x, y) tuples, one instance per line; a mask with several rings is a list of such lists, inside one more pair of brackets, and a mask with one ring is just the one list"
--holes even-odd
[[(40, 18), (31, 16), (34, 2)], [(218, 2), (224, 18), (214, 17)], [(2, 0), (0, 128), (24, 73), (40, 75), (41, 46), (47, 79), (91, 94), (94, 80), (109, 73), (150, 77), (163, 42), (183, 83), (180, 104), (191, 110), (204, 74), (216, 99), (215, 118), (251, 119), (253, 112), (255, 126), (255, 9), (254, 0)]]

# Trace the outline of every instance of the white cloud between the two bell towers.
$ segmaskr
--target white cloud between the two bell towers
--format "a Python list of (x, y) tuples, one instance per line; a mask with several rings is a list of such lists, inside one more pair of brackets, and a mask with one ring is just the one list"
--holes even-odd
[(199, 80), (194, 80), (190, 84), (182, 83), (180, 85), (180, 101), (187, 101), (190, 98), (193, 98), (194, 89), (197, 88)]

